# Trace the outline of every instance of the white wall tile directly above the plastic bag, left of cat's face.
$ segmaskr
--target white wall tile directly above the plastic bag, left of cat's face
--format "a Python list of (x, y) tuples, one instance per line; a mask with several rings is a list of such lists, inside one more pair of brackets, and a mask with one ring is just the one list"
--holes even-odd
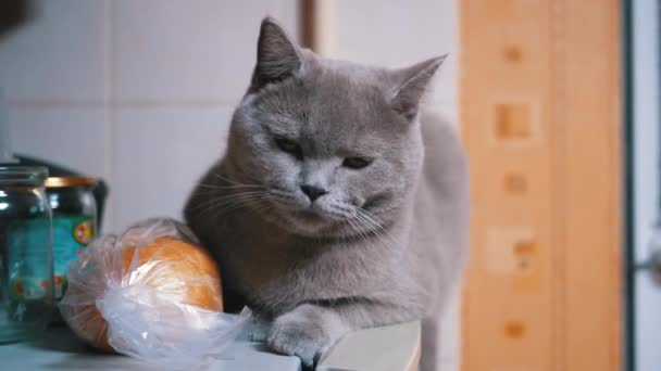
[(113, 132), (113, 229), (180, 217), (192, 187), (221, 157), (230, 108), (119, 108)]

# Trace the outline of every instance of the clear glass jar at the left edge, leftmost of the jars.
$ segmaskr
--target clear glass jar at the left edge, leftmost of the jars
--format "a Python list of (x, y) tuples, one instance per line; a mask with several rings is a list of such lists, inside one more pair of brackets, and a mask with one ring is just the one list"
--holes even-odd
[(42, 334), (53, 310), (47, 176), (42, 167), (0, 166), (0, 343)]

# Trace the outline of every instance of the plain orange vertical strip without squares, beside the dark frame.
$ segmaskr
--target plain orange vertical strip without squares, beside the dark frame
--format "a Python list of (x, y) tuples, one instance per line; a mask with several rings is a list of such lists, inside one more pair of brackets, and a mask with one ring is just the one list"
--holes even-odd
[(614, 370), (623, 323), (620, 2), (565, 7), (565, 354), (570, 370)]

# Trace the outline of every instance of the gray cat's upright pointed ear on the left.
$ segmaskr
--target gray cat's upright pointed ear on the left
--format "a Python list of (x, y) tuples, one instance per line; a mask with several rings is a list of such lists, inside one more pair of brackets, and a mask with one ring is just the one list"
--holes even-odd
[(297, 73), (301, 66), (302, 59), (298, 47), (275, 20), (265, 17), (260, 27), (257, 65), (252, 74), (250, 91), (282, 81)]

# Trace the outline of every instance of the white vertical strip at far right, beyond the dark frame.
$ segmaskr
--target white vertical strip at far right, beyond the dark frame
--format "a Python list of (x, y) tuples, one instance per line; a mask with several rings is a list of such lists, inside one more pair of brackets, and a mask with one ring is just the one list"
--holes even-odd
[[(649, 257), (651, 227), (659, 215), (659, 3), (634, 3), (634, 183), (635, 256), (638, 263)], [(637, 371), (661, 369), (661, 286), (646, 271), (635, 281)]]

